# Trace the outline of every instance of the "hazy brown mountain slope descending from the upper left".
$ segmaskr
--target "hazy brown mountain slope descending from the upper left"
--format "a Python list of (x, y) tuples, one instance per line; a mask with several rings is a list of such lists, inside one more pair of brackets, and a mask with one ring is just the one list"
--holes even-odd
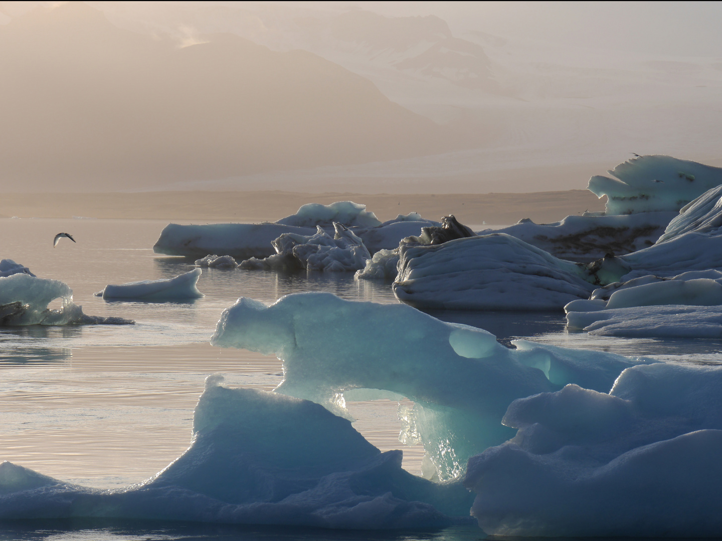
[(444, 128), (313, 53), (227, 33), (194, 41), (179, 48), (123, 30), (82, 3), (0, 26), (6, 185), (117, 190), (455, 146)]

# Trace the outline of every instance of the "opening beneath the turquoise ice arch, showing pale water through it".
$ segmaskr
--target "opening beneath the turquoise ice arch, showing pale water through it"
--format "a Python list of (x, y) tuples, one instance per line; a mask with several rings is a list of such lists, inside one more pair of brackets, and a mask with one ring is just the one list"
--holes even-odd
[(403, 395), (378, 389), (353, 389), (344, 392), (348, 413), (355, 419), (354, 428), (381, 452), (401, 449), (404, 459), (401, 467), (414, 475), (422, 475), (424, 447), (403, 444), (399, 436), (404, 430), (401, 414), (414, 408), (414, 403)]

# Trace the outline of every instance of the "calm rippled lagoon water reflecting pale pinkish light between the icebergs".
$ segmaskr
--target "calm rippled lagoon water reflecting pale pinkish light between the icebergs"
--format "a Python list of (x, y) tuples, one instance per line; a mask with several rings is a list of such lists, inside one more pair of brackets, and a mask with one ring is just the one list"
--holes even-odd
[[(239, 296), (273, 302), (300, 291), (395, 303), (389, 283), (350, 273), (277, 273), (204, 269), (193, 302), (106, 302), (93, 295), (109, 283), (171, 278), (193, 268), (152, 252), (165, 221), (1, 219), (0, 258), (37, 276), (69, 284), (88, 315), (120, 316), (136, 325), (0, 327), (0, 460), (97, 488), (138, 483), (188, 447), (193, 407), (204, 378), (272, 390), (282, 379), (274, 357), (208, 343), (220, 313)], [(77, 243), (53, 236), (68, 232)], [(531, 338), (572, 348), (681, 362), (722, 362), (720, 340), (632, 340), (565, 331), (561, 313), (430, 312), (489, 330), (505, 345)], [(324, 329), (333, 333), (333, 328)], [(403, 405), (403, 404), (402, 404)], [(408, 405), (408, 404), (406, 404)], [(422, 449), (399, 443), (399, 403), (348, 403), (355, 427), (382, 451), (404, 450), (418, 474)], [(0, 528), (0, 539), (478, 539), (478, 529), (443, 532), (311, 532), (200, 525), (48, 522)]]

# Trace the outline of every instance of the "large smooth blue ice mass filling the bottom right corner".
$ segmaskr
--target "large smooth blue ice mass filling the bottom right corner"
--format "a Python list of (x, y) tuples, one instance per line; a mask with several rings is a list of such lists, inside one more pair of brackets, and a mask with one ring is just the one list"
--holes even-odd
[(718, 537), (721, 394), (718, 366), (654, 364), (516, 400), (516, 436), (469, 460), (472, 514), (488, 535)]

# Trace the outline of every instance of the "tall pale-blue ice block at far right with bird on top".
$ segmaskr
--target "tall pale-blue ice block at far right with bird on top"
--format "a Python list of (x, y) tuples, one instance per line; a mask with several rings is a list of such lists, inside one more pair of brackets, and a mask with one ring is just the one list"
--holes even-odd
[(671, 156), (632, 158), (609, 171), (613, 177), (591, 177), (587, 187), (606, 195), (606, 214), (679, 211), (710, 188), (722, 184), (722, 168)]

